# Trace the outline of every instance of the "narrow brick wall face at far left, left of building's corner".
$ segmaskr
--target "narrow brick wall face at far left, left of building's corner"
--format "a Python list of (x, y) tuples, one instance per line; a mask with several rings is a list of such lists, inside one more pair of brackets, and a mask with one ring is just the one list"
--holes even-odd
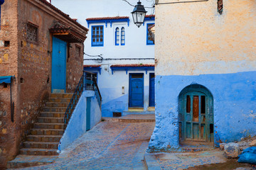
[[(18, 75), (17, 6), (17, 0), (5, 1), (1, 5), (0, 76)], [(16, 115), (17, 84), (17, 79), (12, 80), (14, 123), (11, 122), (10, 84), (0, 84), (0, 169), (18, 152), (20, 124)]]

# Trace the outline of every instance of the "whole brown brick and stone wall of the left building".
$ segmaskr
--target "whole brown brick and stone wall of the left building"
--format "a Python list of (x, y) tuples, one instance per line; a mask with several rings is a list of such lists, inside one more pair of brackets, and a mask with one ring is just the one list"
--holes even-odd
[[(39, 7), (38, 7), (39, 6)], [(81, 29), (41, 1), (10, 0), (1, 5), (0, 76), (15, 76), (12, 80), (14, 123), (11, 122), (10, 86), (0, 85), (0, 169), (18, 154), (21, 141), (28, 134), (39, 111), (51, 93), (52, 35), (54, 21)], [(27, 23), (38, 26), (38, 42), (27, 38)], [(4, 41), (9, 40), (9, 47)], [(82, 76), (83, 44), (80, 55), (71, 44), (66, 70), (66, 92), (75, 91)]]

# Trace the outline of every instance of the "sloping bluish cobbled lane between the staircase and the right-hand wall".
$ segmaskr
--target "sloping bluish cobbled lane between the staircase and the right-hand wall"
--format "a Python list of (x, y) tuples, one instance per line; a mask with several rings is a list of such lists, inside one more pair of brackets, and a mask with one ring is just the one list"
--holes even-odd
[(26, 169), (145, 169), (154, 122), (105, 121), (65, 149), (55, 163)]

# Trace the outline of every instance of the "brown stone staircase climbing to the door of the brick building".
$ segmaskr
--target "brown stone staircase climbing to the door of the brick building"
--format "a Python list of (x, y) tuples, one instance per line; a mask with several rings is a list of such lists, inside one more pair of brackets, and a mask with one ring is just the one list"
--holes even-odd
[(20, 154), (57, 155), (58, 143), (63, 136), (64, 115), (73, 94), (51, 94), (46, 107), (26, 137)]

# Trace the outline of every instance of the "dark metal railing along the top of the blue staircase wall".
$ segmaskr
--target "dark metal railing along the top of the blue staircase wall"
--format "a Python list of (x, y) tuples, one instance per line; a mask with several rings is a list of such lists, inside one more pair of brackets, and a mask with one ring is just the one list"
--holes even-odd
[(67, 128), (71, 115), (73, 114), (73, 111), (75, 110), (75, 106), (77, 105), (80, 99), (80, 96), (82, 96), (83, 91), (85, 90), (95, 91), (95, 96), (97, 98), (97, 102), (99, 103), (99, 106), (101, 109), (102, 96), (100, 95), (100, 89), (97, 86), (96, 76), (97, 74), (95, 73), (83, 71), (82, 77), (80, 78), (78, 86), (76, 87), (75, 92), (70, 100), (70, 103), (68, 104), (68, 108), (65, 111), (64, 130), (65, 128)]

